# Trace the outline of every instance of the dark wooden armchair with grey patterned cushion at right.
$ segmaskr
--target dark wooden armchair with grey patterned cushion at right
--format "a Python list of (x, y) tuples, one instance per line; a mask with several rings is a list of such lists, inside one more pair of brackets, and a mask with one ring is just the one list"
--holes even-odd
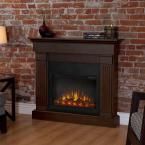
[(145, 145), (145, 108), (139, 111), (145, 93), (133, 92), (126, 145)]

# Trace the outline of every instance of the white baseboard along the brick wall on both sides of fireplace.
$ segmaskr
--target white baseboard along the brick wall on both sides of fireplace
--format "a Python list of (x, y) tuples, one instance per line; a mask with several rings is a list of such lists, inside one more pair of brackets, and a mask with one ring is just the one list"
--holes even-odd
[[(6, 104), (6, 108), (10, 109), (10, 103)], [(36, 104), (32, 103), (16, 103), (16, 113), (18, 114), (32, 114), (32, 110), (36, 108)], [(128, 125), (129, 113), (118, 112), (120, 116), (120, 124)]]

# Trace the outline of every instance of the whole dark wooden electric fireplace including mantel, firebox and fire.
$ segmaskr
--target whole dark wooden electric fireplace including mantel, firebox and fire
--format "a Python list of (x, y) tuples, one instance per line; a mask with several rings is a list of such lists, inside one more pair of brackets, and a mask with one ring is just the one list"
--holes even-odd
[(116, 127), (121, 40), (30, 38), (36, 53), (32, 118)]

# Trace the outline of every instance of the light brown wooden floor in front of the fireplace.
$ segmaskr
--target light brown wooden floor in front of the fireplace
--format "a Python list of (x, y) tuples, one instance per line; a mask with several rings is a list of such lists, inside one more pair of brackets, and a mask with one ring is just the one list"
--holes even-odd
[(126, 126), (107, 128), (17, 116), (8, 120), (7, 134), (0, 134), (0, 145), (125, 145)]

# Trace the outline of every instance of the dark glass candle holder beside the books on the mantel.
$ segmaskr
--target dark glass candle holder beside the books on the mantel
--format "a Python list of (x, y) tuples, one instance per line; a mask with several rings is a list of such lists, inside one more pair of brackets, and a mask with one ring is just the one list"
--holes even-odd
[(118, 27), (116, 26), (105, 26), (104, 33), (106, 39), (118, 39)]

